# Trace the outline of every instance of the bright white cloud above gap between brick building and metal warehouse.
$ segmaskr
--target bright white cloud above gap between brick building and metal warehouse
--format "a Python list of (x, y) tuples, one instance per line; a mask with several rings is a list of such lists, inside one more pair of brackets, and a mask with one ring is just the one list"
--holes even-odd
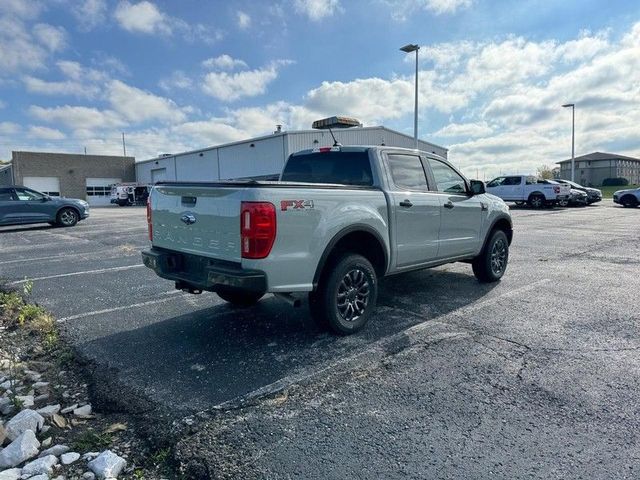
[(184, 112), (168, 98), (132, 87), (120, 80), (112, 80), (107, 88), (111, 108), (131, 122), (157, 120), (171, 123), (185, 119)]

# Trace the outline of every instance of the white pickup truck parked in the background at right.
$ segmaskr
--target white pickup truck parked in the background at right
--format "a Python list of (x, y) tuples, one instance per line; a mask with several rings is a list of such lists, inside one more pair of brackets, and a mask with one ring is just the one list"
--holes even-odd
[(527, 203), (533, 208), (568, 203), (570, 191), (570, 185), (546, 183), (533, 175), (508, 175), (487, 183), (488, 193), (505, 202)]

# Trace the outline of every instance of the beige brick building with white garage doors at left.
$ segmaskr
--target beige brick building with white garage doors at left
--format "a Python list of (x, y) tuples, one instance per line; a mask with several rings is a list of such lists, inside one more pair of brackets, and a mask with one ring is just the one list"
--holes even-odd
[(135, 158), (47, 152), (12, 152), (13, 181), (51, 196), (108, 205), (111, 185), (135, 181)]

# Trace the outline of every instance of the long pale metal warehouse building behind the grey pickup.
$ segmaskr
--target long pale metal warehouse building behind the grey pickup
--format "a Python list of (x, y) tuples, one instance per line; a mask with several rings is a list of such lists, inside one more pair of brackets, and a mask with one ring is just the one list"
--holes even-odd
[[(385, 127), (356, 127), (333, 131), (342, 145), (390, 145), (414, 148), (413, 137)], [(290, 154), (333, 145), (327, 130), (281, 131), (272, 135), (203, 148), (191, 152), (162, 155), (138, 162), (138, 182), (215, 181), (280, 173)], [(421, 150), (446, 158), (447, 149), (422, 140)]]

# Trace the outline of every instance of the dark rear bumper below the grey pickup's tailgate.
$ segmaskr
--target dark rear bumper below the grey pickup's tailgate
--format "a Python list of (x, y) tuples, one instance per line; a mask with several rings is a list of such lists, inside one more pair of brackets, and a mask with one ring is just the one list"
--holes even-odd
[(243, 269), (233, 262), (223, 262), (199, 255), (151, 248), (142, 252), (142, 262), (159, 277), (173, 280), (176, 288), (215, 292), (234, 289), (265, 293), (267, 276), (260, 270)]

